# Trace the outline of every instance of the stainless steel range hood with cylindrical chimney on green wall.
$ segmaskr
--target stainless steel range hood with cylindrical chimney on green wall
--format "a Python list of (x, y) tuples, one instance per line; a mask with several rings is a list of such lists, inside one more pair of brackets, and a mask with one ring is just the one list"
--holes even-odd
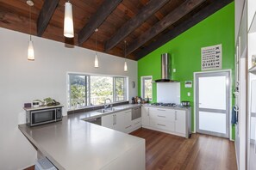
[(168, 53), (161, 55), (162, 68), (161, 68), (161, 79), (155, 80), (154, 82), (177, 82), (172, 80), (171, 70), (171, 56)]

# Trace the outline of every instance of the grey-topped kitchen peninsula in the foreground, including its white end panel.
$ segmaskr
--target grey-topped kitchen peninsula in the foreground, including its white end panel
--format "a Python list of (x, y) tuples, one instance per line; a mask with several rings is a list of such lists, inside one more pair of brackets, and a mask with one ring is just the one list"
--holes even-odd
[(145, 169), (145, 140), (85, 122), (84, 113), (19, 129), (58, 169)]

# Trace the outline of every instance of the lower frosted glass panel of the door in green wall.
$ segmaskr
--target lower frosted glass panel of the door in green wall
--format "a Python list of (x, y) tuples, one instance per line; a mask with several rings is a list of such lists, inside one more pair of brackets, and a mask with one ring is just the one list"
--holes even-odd
[(226, 134), (226, 114), (199, 112), (199, 129)]

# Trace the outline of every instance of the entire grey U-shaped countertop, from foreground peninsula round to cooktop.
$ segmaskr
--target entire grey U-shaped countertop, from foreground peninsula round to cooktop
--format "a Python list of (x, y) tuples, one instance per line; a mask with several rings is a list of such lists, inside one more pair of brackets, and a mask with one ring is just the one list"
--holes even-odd
[[(141, 105), (114, 106), (115, 111), (106, 113), (97, 111), (74, 113), (53, 124), (34, 127), (20, 124), (19, 129), (59, 169), (100, 169), (119, 155), (125, 154), (128, 149), (139, 143), (145, 143), (145, 140), (84, 120), (138, 106)], [(144, 104), (144, 106), (150, 105)]]

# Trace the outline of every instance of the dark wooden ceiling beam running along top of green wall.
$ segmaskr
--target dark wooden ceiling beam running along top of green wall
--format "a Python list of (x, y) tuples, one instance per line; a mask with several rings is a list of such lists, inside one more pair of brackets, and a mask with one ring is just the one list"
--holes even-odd
[(198, 11), (197, 14), (191, 16), (190, 19), (182, 22), (177, 27), (173, 27), (169, 32), (161, 35), (159, 39), (152, 42), (149, 46), (146, 46), (143, 48), (143, 50), (137, 52), (135, 54), (136, 60), (145, 57), (150, 52), (153, 52), (160, 46), (165, 45), (165, 43), (167, 43), (168, 41), (176, 38), (179, 34), (184, 33), (186, 30), (190, 29), (190, 27), (195, 26), (197, 23), (203, 21), (209, 15), (214, 14), (216, 11), (222, 9), (229, 3), (232, 3), (233, 1), (234, 0), (212, 0), (212, 2), (207, 7)]

